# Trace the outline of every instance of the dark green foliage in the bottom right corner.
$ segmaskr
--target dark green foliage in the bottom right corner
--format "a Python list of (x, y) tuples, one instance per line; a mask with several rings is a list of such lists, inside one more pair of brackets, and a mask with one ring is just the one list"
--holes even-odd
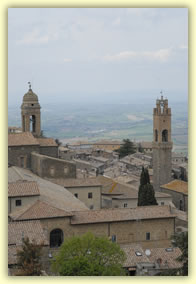
[(182, 263), (177, 269), (165, 270), (157, 275), (159, 276), (188, 276), (188, 232), (182, 232), (172, 236), (172, 245), (179, 247), (182, 254), (176, 259)]

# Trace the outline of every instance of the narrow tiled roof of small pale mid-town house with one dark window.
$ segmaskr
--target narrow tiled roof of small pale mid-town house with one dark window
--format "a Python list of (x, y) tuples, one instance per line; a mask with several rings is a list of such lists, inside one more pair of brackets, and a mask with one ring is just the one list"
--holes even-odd
[(101, 186), (95, 178), (68, 178), (68, 179), (49, 179), (50, 181), (62, 185), (64, 187), (88, 187), (88, 186)]

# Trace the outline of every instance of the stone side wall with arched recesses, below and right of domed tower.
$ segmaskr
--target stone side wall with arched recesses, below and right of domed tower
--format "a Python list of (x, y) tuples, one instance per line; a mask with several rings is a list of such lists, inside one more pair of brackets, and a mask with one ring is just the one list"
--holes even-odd
[(73, 162), (31, 153), (31, 170), (40, 177), (76, 178), (76, 165)]

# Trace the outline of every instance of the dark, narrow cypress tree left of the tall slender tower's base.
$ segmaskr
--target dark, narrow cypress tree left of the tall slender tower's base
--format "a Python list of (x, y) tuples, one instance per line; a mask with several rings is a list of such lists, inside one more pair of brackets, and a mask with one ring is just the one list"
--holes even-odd
[(148, 169), (142, 167), (138, 191), (138, 206), (158, 205), (153, 186), (150, 184)]

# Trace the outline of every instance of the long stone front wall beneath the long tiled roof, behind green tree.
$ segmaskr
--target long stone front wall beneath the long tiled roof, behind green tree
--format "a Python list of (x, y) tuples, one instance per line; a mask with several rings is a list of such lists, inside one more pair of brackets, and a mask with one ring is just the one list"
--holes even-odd
[[(140, 243), (148, 248), (169, 246), (175, 229), (174, 218), (71, 225), (70, 217), (65, 217), (41, 222), (48, 238), (54, 229), (61, 229), (64, 239), (92, 232), (96, 236), (106, 236), (109, 239), (115, 235), (119, 244)], [(146, 240), (146, 233), (150, 233), (150, 240)]]

